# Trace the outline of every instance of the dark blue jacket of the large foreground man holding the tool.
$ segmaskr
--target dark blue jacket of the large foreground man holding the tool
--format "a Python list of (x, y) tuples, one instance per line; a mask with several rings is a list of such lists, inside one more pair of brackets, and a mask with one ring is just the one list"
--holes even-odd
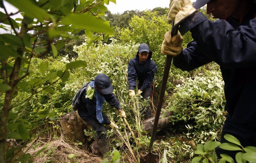
[(194, 41), (173, 58), (176, 67), (192, 70), (209, 62), (221, 68), (225, 109), (237, 122), (256, 116), (256, 10), (248, 13), (239, 25), (233, 18), (208, 20), (197, 13), (181, 24), (182, 34), (190, 30)]

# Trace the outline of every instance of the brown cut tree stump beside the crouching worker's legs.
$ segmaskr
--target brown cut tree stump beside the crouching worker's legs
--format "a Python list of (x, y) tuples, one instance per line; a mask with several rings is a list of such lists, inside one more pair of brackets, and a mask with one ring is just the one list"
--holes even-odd
[(91, 126), (83, 121), (77, 112), (72, 111), (60, 117), (60, 126), (63, 136), (70, 143), (86, 142), (83, 130)]

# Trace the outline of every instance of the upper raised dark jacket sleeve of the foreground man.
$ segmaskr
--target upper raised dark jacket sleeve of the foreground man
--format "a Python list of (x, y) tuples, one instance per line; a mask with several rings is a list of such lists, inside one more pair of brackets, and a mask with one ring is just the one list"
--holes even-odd
[[(185, 27), (197, 48), (226, 69), (252, 67), (256, 63), (256, 18), (235, 30), (226, 20), (210, 21), (197, 13)], [(182, 24), (181, 24), (182, 25)]]

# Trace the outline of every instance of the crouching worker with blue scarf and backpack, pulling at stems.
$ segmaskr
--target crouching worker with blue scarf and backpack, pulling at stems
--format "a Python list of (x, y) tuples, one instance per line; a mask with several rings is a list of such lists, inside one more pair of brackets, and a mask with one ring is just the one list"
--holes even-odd
[[(120, 107), (120, 102), (113, 94), (111, 81), (105, 74), (98, 74), (95, 80), (86, 83), (83, 88), (78, 90), (78, 93), (78, 115), (97, 132), (97, 144), (104, 157), (104, 155), (110, 151), (110, 148), (108, 138), (106, 138), (106, 128), (103, 124), (117, 129), (118, 126), (101, 112), (103, 103), (107, 101), (111, 106), (115, 107), (120, 117), (126, 117), (125, 112)], [(76, 105), (73, 104), (73, 109), (74, 106)]]

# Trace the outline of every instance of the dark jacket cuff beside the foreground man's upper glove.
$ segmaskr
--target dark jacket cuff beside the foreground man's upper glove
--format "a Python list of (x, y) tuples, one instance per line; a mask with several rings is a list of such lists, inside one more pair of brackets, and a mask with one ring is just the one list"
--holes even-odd
[(207, 20), (207, 18), (200, 12), (189, 16), (189, 18), (185, 19), (185, 21), (180, 24), (179, 31), (181, 35), (184, 35), (189, 30), (204, 22), (205, 20)]

